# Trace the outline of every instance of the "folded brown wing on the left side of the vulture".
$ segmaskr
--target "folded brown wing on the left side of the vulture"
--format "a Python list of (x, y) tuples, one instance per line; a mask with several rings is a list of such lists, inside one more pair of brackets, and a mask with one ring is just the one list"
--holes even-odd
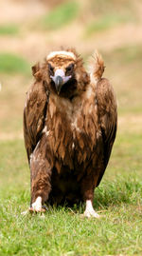
[(44, 83), (43, 81), (36, 81), (27, 93), (26, 107), (24, 109), (24, 138), (28, 162), (30, 154), (38, 144), (44, 128), (49, 97)]

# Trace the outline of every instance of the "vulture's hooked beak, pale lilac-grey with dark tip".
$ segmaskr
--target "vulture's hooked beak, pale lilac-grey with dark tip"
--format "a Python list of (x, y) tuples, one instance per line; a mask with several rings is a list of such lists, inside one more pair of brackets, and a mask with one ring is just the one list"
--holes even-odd
[(57, 69), (54, 76), (50, 75), (50, 77), (55, 83), (57, 93), (60, 94), (62, 85), (68, 82), (68, 80), (71, 78), (71, 75), (65, 76), (65, 73), (62, 69)]

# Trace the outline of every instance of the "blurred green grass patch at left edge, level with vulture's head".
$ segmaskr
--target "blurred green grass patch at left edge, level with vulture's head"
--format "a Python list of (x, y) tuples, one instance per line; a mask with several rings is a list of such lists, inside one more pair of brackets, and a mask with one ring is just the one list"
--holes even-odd
[(1, 73), (22, 73), (28, 74), (30, 71), (27, 60), (21, 56), (5, 52), (0, 52), (0, 72)]

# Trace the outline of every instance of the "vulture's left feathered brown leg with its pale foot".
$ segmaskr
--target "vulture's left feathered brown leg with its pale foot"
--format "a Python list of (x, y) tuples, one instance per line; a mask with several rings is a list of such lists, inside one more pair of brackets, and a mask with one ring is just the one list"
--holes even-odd
[(40, 156), (41, 154), (38, 154), (38, 157), (34, 155), (30, 159), (31, 203), (29, 211), (35, 212), (45, 211), (43, 205), (51, 190), (51, 167), (47, 159), (42, 159)]

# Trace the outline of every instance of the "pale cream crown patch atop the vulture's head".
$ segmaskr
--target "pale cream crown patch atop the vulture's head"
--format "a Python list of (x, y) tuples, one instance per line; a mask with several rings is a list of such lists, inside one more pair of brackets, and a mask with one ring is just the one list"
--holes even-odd
[(58, 50), (58, 51), (51, 51), (47, 57), (46, 57), (46, 60), (50, 60), (56, 56), (60, 56), (62, 58), (71, 58), (73, 59), (74, 61), (76, 60), (76, 56), (73, 52), (71, 51), (66, 51), (66, 50)]

